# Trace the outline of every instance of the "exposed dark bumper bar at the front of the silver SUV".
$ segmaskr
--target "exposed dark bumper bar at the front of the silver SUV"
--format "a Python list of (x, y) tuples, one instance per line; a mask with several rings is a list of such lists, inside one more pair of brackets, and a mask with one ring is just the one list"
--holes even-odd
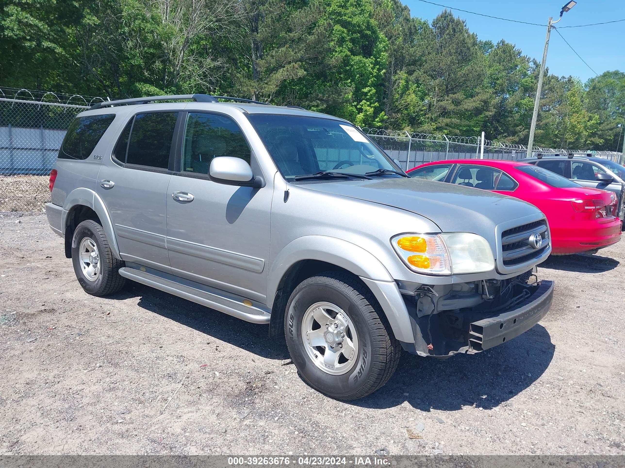
[(472, 322), (466, 353), (479, 353), (526, 332), (545, 316), (552, 300), (553, 281), (542, 280), (536, 292), (514, 310)]

